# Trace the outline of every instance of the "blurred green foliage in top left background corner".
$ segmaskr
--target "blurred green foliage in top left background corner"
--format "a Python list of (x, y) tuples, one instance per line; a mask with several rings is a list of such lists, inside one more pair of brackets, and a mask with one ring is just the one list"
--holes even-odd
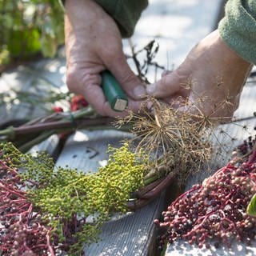
[(63, 10), (53, 0), (0, 0), (0, 65), (42, 52), (53, 57), (64, 42)]

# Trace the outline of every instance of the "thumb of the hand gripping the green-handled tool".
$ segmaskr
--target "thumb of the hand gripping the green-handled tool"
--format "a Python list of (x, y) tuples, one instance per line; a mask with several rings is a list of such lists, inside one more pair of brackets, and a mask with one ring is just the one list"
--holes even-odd
[(124, 54), (121, 54), (119, 58), (112, 59), (110, 63), (107, 63), (106, 67), (114, 75), (114, 78), (117, 79), (130, 98), (140, 100), (146, 96), (145, 86), (130, 69)]

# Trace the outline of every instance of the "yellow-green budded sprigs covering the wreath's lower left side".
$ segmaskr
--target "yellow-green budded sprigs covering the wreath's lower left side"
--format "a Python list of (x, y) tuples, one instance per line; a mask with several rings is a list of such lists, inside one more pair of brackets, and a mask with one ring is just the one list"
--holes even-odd
[(72, 251), (82, 250), (84, 243), (95, 242), (99, 227), (113, 212), (126, 211), (130, 194), (143, 186), (148, 162), (143, 152), (131, 152), (128, 142), (118, 149), (109, 147), (107, 165), (94, 174), (54, 168), (46, 153), (37, 157), (21, 154), (10, 143), (2, 144), (1, 149), (2, 158), (11, 159), (10, 165), (20, 171), (34, 209), (50, 223), (59, 241), (65, 242), (66, 228), (74, 219), (78, 222), (78, 216), (96, 216), (94, 225), (85, 224), (74, 232), (72, 255)]

